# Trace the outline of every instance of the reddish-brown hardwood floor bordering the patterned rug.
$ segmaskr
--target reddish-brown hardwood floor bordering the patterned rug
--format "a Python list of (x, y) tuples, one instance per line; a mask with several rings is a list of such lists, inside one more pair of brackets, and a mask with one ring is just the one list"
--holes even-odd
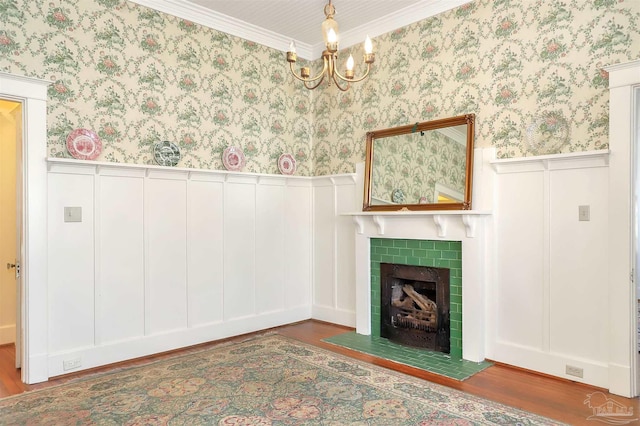
[[(274, 330), (284, 336), (288, 336), (314, 346), (351, 356), (375, 365), (401, 371), (434, 383), (469, 392), (483, 398), (501, 402), (512, 407), (521, 408), (523, 410), (572, 425), (594, 424), (594, 421), (587, 420), (587, 417), (593, 414), (593, 411), (584, 404), (588, 395), (593, 392), (602, 392), (606, 397), (617, 401), (622, 406), (633, 408), (633, 412), (636, 415), (640, 414), (640, 400), (638, 398), (623, 398), (611, 395), (601, 388), (574, 383), (568, 380), (547, 377), (506, 365), (494, 365), (471, 378), (460, 382), (444, 376), (428, 373), (416, 368), (322, 342), (322, 339), (326, 337), (352, 330), (347, 327), (311, 320), (278, 327)], [(261, 333), (262, 332), (254, 334)], [(227, 340), (244, 340), (248, 336), (251, 335), (238, 336)], [(0, 397), (57, 385), (77, 377), (107, 371), (116, 367), (146, 364), (175, 355), (176, 353), (201, 350), (215, 343), (219, 342), (207, 343), (179, 351), (168, 352), (107, 367), (100, 367), (90, 371), (65, 375), (37, 385), (25, 385), (20, 381), (20, 372), (14, 367), (15, 350), (13, 345), (0, 346)], [(640, 424), (640, 422), (635, 424)]]

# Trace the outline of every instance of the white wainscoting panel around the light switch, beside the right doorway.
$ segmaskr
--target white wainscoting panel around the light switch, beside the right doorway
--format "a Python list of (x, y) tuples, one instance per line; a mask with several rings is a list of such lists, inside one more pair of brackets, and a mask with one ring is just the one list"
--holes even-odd
[[(606, 363), (608, 170), (558, 170), (550, 179), (550, 350)], [(589, 207), (588, 221), (578, 220), (578, 206)]]

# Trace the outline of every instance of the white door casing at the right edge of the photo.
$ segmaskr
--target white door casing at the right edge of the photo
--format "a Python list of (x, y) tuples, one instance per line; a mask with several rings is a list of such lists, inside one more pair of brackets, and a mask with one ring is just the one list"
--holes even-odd
[(605, 67), (609, 72), (609, 391), (635, 397), (637, 292), (634, 278), (633, 90), (640, 60)]

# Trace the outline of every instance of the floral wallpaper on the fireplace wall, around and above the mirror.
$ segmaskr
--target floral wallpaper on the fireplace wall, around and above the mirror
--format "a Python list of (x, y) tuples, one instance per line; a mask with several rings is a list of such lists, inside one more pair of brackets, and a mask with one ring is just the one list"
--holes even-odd
[(369, 78), (314, 98), (316, 175), (352, 172), (367, 131), (468, 113), (501, 158), (607, 148), (602, 67), (640, 58), (640, 1), (476, 0), (373, 42)]

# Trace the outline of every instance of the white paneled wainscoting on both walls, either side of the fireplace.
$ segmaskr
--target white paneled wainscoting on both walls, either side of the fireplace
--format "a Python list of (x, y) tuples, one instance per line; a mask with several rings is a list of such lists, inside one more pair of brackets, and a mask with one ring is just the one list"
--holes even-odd
[[(609, 387), (608, 153), (482, 151), (485, 356)], [(361, 176), (49, 169), (49, 377), (65, 360), (89, 368), (311, 317), (356, 325), (356, 224), (345, 213), (361, 209)], [(590, 221), (578, 220), (581, 205)], [(64, 222), (65, 206), (82, 207), (83, 221)]]

